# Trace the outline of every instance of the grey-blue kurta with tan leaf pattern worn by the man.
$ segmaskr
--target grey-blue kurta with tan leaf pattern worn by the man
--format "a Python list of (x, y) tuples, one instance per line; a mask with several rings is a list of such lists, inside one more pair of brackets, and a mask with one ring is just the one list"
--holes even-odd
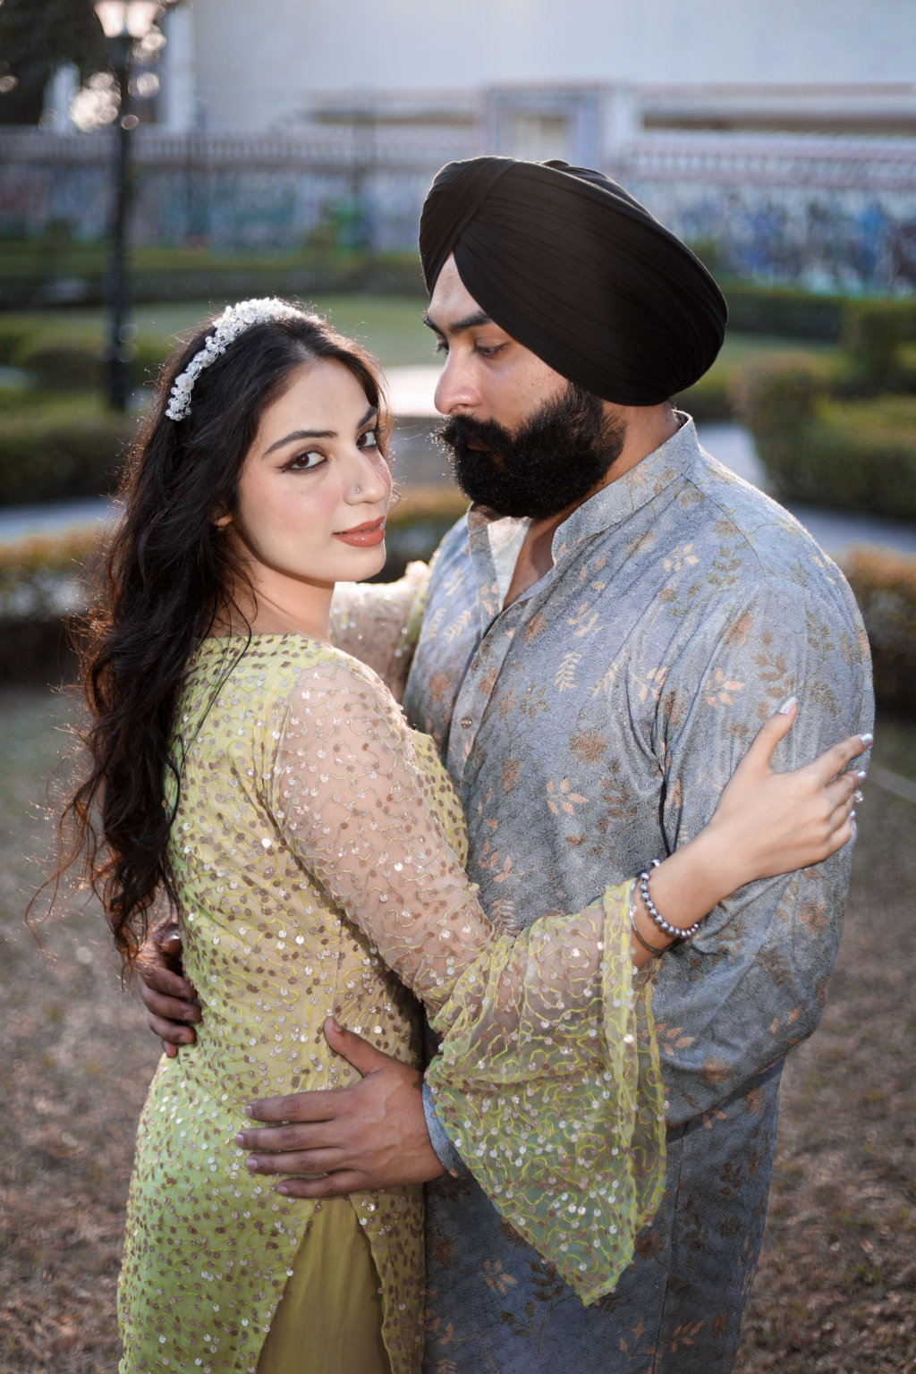
[[(849, 587), (692, 422), (578, 507), (501, 610), (526, 523), (446, 536), (405, 706), (457, 785), (470, 875), (527, 926), (684, 844), (791, 692), (795, 767), (872, 724)], [(764, 1226), (786, 1052), (820, 1017), (849, 848), (755, 883), (659, 962), (669, 1189), (617, 1293), (585, 1309), (467, 1179), (428, 1189), (430, 1374), (731, 1369)]]

